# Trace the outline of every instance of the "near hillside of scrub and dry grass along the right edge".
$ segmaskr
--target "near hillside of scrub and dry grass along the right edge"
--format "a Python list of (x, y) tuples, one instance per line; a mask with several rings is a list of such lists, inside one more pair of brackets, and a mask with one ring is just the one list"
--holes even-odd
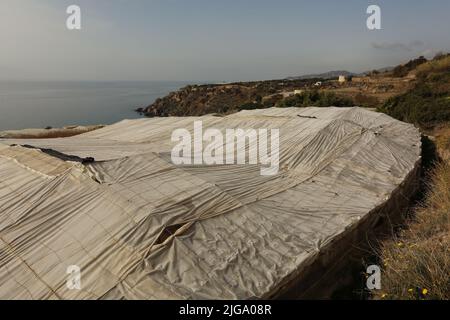
[[(417, 66), (414, 88), (380, 107), (413, 122), (434, 140), (438, 161), (425, 196), (400, 232), (381, 242), (383, 288), (377, 299), (450, 299), (450, 55)], [(432, 155), (431, 155), (432, 156)], [(424, 161), (430, 155), (424, 155)], [(429, 160), (428, 160), (429, 161)], [(433, 163), (431, 164), (433, 166)]]

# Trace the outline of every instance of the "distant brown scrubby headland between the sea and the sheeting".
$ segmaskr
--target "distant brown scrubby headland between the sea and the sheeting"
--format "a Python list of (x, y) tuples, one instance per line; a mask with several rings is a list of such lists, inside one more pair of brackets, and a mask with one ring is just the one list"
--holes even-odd
[[(339, 75), (345, 75), (347, 81), (339, 83)], [(398, 77), (391, 71), (373, 71), (364, 76), (332, 71), (281, 80), (189, 85), (136, 111), (149, 117), (165, 117), (229, 114), (243, 109), (286, 105), (326, 107), (340, 104), (374, 108), (389, 98), (407, 92), (414, 82), (414, 76), (407, 74)], [(292, 100), (295, 93), (305, 93), (308, 97), (320, 96), (320, 101), (305, 97), (300, 104), (285, 101)], [(344, 103), (343, 99), (346, 100)]]

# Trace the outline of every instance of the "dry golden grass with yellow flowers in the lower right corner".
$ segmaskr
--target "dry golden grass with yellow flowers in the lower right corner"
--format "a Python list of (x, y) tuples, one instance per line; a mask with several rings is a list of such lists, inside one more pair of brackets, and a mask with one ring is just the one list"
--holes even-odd
[(406, 229), (382, 243), (380, 259), (375, 299), (450, 299), (449, 161), (436, 166), (424, 203)]

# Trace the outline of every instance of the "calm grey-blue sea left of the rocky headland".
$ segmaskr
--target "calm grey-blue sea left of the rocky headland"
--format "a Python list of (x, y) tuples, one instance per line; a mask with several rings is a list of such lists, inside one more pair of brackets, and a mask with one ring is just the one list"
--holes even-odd
[(0, 131), (111, 124), (139, 118), (134, 112), (187, 82), (0, 81)]

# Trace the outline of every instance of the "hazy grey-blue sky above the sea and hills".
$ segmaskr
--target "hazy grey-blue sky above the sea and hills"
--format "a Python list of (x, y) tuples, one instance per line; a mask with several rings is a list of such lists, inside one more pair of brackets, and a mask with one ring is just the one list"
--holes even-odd
[[(66, 29), (66, 8), (82, 30)], [(382, 10), (369, 31), (366, 9)], [(0, 0), (0, 79), (274, 79), (450, 51), (450, 1)]]

